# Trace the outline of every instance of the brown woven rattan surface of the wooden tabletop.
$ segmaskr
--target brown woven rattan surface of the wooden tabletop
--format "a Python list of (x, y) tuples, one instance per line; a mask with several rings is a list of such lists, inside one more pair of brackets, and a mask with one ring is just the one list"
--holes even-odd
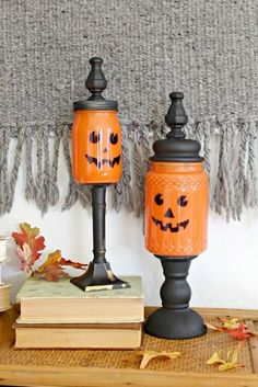
[[(214, 320), (207, 322), (214, 323)], [(222, 358), (227, 351), (235, 350), (237, 342), (225, 332), (209, 331), (206, 335), (192, 340), (164, 340), (143, 337), (143, 349), (152, 351), (179, 351), (183, 356), (177, 360), (159, 357), (152, 360), (148, 369), (171, 372), (194, 372), (202, 374), (219, 373), (218, 366), (206, 362), (218, 351)], [(133, 351), (101, 351), (101, 350), (17, 350), (13, 346), (0, 350), (0, 364), (38, 365), (56, 367), (102, 367), (102, 368), (139, 368), (141, 350)], [(251, 374), (251, 357), (248, 341), (243, 342), (238, 362), (244, 368), (230, 373)]]

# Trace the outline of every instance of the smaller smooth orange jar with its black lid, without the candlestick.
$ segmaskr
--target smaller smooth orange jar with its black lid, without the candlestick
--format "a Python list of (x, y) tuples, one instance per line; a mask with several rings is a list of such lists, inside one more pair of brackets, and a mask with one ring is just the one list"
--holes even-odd
[(82, 184), (110, 184), (121, 177), (121, 128), (117, 102), (105, 100), (101, 93), (106, 80), (102, 59), (90, 60), (92, 71), (86, 88), (92, 92), (87, 101), (74, 103), (72, 126), (72, 171)]

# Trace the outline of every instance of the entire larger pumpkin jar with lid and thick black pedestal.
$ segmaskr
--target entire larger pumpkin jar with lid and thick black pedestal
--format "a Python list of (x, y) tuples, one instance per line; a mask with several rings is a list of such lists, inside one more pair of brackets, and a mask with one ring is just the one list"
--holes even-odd
[(161, 260), (165, 282), (162, 308), (146, 320), (146, 333), (164, 339), (191, 339), (207, 332), (190, 309), (187, 275), (191, 260), (207, 248), (208, 175), (200, 144), (186, 139), (184, 94), (171, 94), (166, 115), (171, 132), (154, 143), (145, 178), (145, 247)]

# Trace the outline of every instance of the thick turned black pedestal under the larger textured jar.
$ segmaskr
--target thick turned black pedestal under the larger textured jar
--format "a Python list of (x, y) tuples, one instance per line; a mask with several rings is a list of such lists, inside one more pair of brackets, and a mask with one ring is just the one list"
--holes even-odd
[(207, 333), (201, 316), (189, 308), (191, 289), (186, 281), (191, 260), (157, 257), (165, 282), (161, 287), (162, 308), (145, 322), (146, 333), (163, 339), (192, 339)]

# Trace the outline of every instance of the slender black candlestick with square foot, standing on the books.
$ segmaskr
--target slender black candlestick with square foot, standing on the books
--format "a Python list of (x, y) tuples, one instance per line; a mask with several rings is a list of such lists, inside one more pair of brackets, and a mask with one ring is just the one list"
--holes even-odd
[(130, 287), (127, 282), (115, 276), (105, 258), (105, 196), (106, 185), (93, 185), (92, 215), (94, 258), (83, 275), (71, 280), (73, 285), (85, 292)]

